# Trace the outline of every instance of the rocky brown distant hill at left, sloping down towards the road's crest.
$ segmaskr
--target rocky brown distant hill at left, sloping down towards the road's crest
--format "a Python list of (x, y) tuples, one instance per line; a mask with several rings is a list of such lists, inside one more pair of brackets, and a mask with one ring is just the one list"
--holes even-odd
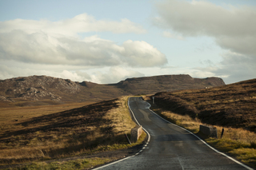
[(20, 106), (102, 101), (123, 95), (127, 93), (112, 85), (98, 85), (87, 81), (79, 83), (55, 77), (30, 76), (0, 81), (0, 101), (16, 101)]

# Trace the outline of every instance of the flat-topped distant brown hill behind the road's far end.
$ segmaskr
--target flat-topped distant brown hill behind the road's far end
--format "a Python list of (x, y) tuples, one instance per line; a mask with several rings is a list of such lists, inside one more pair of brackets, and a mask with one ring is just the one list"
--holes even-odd
[(120, 81), (117, 87), (132, 94), (150, 94), (178, 89), (206, 89), (225, 85), (218, 77), (193, 78), (190, 75), (164, 75), (154, 77), (128, 78)]

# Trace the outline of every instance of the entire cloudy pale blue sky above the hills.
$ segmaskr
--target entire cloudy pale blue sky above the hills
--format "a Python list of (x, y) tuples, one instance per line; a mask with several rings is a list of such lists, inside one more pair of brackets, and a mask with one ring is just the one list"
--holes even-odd
[(0, 0), (0, 79), (256, 78), (255, 0)]

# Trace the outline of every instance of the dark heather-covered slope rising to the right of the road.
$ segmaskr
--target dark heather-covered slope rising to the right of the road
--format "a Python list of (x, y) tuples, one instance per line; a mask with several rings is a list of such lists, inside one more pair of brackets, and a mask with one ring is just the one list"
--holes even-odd
[(256, 132), (256, 79), (200, 90), (156, 93), (155, 103), (210, 125)]

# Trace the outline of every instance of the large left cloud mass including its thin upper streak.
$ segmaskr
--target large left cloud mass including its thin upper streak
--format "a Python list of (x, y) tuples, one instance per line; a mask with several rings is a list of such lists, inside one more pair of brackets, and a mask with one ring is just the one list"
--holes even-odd
[(117, 45), (98, 36), (78, 37), (78, 33), (91, 31), (141, 34), (146, 30), (127, 19), (121, 22), (96, 20), (88, 14), (58, 22), (23, 19), (0, 22), (0, 60), (47, 65), (135, 67), (166, 62), (165, 55), (146, 42), (129, 40)]

